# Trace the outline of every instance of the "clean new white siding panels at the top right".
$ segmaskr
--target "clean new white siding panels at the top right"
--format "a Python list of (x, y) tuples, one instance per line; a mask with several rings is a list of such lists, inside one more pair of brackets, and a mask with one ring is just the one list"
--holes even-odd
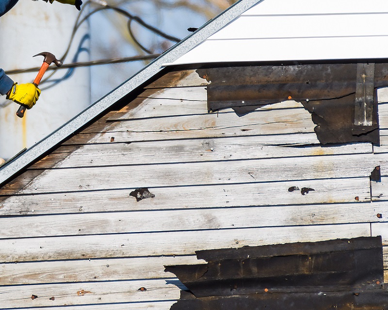
[(173, 64), (387, 58), (388, 1), (264, 0)]

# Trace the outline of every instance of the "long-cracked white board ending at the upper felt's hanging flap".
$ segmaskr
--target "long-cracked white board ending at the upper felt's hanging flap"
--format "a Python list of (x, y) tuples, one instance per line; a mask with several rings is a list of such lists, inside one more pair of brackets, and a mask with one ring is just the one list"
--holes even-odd
[[(227, 137), (235, 135), (235, 132), (248, 136), (255, 133), (275, 135), (310, 133), (314, 127), (310, 113), (305, 109), (261, 109), (241, 117), (234, 112), (227, 112), (113, 122), (102, 133), (125, 132), (129, 139), (137, 140), (139, 136), (138, 139), (143, 137), (141, 140), (160, 140), (168, 139), (168, 136), (157, 138), (162, 134), (169, 134), (170, 139)], [(86, 129), (82, 133), (92, 131)]]

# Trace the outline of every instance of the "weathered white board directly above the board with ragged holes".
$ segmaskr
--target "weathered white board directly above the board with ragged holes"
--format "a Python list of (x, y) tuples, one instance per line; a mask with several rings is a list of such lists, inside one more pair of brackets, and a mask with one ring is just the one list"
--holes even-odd
[[(319, 178), (365, 177), (388, 166), (384, 155), (327, 155), (145, 166), (47, 170), (20, 194), (45, 192), (193, 186)], [(65, 186), (64, 186), (65, 185)]]

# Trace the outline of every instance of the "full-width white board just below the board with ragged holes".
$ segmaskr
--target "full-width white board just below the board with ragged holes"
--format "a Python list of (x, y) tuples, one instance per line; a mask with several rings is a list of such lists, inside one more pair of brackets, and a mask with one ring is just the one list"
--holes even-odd
[[(377, 214), (384, 216), (378, 218)], [(383, 221), (388, 221), (388, 205), (385, 202), (62, 214), (4, 218), (1, 221), (0, 238), (180, 232)], [(25, 227), (28, 227), (27, 231), (24, 230)]]

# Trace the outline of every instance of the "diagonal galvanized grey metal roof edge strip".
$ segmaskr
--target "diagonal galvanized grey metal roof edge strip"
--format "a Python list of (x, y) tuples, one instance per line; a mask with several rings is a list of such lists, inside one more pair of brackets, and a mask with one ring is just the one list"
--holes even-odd
[(171, 47), (160, 57), (149, 63), (137, 74), (133, 75), (126, 82), (118, 86), (112, 92), (108, 93), (105, 97), (102, 97), (100, 100), (90, 105), (80, 114), (75, 116), (72, 120), (55, 130), (52, 134), (34, 144), (26, 152), (2, 166), (0, 168), (0, 186), (4, 185), (7, 181), (12, 179), (12, 177), (22, 169), (29, 166), (34, 160), (46, 154), (58, 143), (62, 142), (74, 132), (79, 130), (83, 125), (89, 123), (98, 115), (109, 109), (125, 95), (144, 84), (150, 78), (154, 77), (164, 68), (164, 64), (174, 62), (176, 59), (178, 59), (178, 57), (182, 56), (190, 49), (203, 42), (211, 34), (220, 30), (233, 19), (240, 16), (244, 11), (262, 1), (264, 0), (240, 0), (236, 2), (223, 13), (204, 24), (197, 31), (188, 35), (175, 46)]

